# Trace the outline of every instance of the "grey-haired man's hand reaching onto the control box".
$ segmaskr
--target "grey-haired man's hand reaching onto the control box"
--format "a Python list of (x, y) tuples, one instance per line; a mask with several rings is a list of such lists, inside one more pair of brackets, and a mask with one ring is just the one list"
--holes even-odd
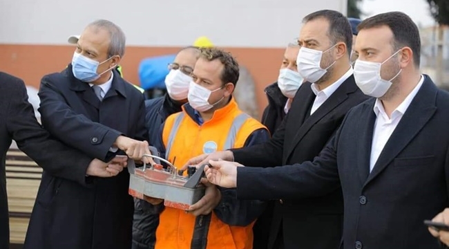
[(132, 138), (127, 138), (126, 136), (119, 136), (117, 140), (115, 140), (114, 145), (122, 151), (125, 151), (126, 155), (134, 160), (142, 160), (145, 163), (149, 163), (154, 165), (153, 158), (148, 156), (144, 157), (144, 154), (151, 155), (148, 142), (134, 140)]

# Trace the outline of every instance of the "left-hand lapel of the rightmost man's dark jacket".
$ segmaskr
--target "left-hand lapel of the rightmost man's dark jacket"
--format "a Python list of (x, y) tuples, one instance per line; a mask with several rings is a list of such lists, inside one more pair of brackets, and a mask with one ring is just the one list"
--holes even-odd
[(376, 114), (373, 111), (375, 102), (376, 99), (372, 99), (365, 104), (367, 110), (363, 111), (363, 116), (359, 119), (360, 122), (357, 122), (357, 168), (362, 185), (370, 174), (372, 134), (374, 132), (374, 122), (376, 122)]

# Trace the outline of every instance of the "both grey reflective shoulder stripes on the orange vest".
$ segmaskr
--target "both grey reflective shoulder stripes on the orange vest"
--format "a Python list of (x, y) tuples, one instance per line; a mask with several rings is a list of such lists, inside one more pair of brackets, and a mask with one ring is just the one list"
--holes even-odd
[[(178, 133), (178, 129), (180, 127), (182, 118), (184, 118), (184, 112), (181, 112), (176, 116), (175, 122), (173, 122), (173, 127), (171, 127), (169, 141), (167, 142), (165, 158), (168, 160), (168, 156), (170, 154), (170, 148), (173, 145), (175, 140), (176, 133)], [(240, 113), (236, 118), (234, 118), (231, 128), (229, 129), (229, 133), (227, 135), (225, 145), (223, 146), (223, 150), (232, 149), (234, 142), (236, 142), (236, 136), (242, 125), (251, 118), (247, 113)]]

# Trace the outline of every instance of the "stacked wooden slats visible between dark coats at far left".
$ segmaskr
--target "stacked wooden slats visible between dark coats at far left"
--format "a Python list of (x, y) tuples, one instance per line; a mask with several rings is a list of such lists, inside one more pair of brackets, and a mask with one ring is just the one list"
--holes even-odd
[(6, 153), (6, 190), (10, 211), (10, 243), (25, 240), (41, 183), (42, 168), (13, 145)]

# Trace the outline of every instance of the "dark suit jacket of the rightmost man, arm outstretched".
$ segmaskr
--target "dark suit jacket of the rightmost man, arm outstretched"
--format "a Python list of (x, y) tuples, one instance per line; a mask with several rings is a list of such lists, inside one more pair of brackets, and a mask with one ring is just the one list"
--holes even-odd
[(300, 200), (342, 187), (342, 248), (438, 248), (423, 220), (449, 205), (449, 94), (425, 77), (371, 173), (374, 99), (347, 114), (313, 162), (239, 167), (238, 196)]

